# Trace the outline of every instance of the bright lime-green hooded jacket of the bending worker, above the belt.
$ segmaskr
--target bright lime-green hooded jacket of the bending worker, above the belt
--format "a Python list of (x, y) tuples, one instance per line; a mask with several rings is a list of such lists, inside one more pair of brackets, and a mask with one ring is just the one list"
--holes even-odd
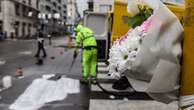
[(94, 32), (91, 29), (78, 25), (74, 30), (77, 32), (76, 43), (78, 46), (81, 46), (81, 44), (83, 44), (83, 47), (97, 46)]

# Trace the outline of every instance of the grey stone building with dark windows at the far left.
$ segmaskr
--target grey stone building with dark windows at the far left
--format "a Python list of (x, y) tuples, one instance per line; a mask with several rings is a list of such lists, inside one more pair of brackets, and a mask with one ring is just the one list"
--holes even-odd
[(34, 36), (38, 12), (38, 0), (0, 0), (0, 32), (7, 37)]

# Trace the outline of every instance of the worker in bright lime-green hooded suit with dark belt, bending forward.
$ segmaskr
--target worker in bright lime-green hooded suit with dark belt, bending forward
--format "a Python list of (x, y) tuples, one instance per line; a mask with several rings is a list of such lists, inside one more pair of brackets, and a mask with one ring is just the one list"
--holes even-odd
[[(88, 83), (89, 73), (91, 73), (92, 83), (96, 83), (96, 65), (97, 65), (97, 43), (94, 32), (88, 27), (78, 25), (74, 31), (76, 32), (77, 46), (83, 47), (83, 67), (84, 80)], [(77, 50), (77, 49), (76, 49)]]

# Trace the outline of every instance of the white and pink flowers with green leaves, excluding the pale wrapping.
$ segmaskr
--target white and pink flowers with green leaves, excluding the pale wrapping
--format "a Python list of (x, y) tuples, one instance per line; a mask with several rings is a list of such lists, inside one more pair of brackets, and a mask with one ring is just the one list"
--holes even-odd
[(137, 4), (137, 6), (139, 13), (129, 17), (129, 25), (133, 28), (117, 39), (110, 49), (109, 74), (113, 77), (119, 78), (126, 69), (131, 69), (142, 40), (152, 23), (153, 10), (145, 4)]

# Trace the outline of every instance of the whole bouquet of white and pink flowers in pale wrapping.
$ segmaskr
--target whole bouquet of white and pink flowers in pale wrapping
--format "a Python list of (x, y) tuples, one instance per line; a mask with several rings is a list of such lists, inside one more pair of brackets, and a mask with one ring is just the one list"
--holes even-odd
[(109, 74), (126, 76), (136, 91), (169, 103), (179, 90), (183, 27), (160, 0), (129, 0), (128, 10), (133, 28), (113, 43)]

